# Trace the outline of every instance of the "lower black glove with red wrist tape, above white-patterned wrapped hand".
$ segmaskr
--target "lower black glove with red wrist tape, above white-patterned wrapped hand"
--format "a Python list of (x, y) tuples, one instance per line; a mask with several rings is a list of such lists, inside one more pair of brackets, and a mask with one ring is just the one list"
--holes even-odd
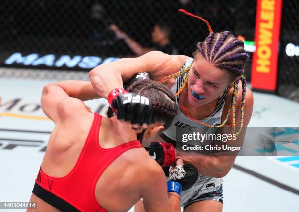
[(149, 155), (157, 161), (157, 163), (164, 166), (171, 166), (175, 162), (175, 148), (170, 143), (150, 142), (144, 147)]

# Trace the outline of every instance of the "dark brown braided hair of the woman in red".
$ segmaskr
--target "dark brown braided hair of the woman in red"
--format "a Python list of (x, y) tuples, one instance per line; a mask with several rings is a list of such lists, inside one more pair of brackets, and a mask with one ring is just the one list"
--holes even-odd
[[(177, 114), (175, 97), (171, 90), (153, 80), (139, 80), (130, 83), (126, 90), (149, 98), (152, 104), (152, 118), (149, 124), (161, 122), (164, 129), (168, 129)], [(108, 109), (108, 117), (113, 116), (111, 108)]]

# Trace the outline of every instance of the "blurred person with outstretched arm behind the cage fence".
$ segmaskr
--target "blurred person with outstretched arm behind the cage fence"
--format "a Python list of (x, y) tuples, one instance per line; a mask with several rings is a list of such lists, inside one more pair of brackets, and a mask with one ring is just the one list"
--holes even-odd
[(112, 24), (110, 29), (115, 32), (118, 39), (124, 39), (128, 47), (138, 56), (154, 50), (162, 51), (166, 54), (178, 54), (177, 49), (170, 41), (171, 29), (163, 23), (155, 24), (153, 31), (151, 32), (152, 42), (154, 43), (154, 47), (152, 48), (142, 46), (130, 38), (125, 32), (120, 30), (115, 24)]

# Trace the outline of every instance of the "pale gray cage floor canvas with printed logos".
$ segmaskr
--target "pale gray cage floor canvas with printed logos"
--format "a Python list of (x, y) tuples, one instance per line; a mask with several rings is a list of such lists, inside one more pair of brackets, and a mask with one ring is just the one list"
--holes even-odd
[[(0, 69), (0, 201), (28, 201), (31, 195), (49, 137), (32, 131), (50, 132), (54, 127), (51, 121), (26, 117), (44, 116), (38, 108), (43, 86), (57, 78), (87, 79), (86, 73), (54, 75)], [(299, 103), (261, 93), (254, 93), (254, 101), (250, 126), (299, 126)], [(93, 111), (107, 108), (103, 100), (86, 105)], [(281, 158), (286, 157), (238, 156), (224, 178), (223, 211), (299, 212), (299, 158)]]

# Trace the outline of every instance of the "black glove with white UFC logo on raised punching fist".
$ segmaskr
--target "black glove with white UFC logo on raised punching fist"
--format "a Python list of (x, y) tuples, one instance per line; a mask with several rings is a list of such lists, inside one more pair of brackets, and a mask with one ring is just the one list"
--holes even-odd
[(140, 125), (149, 124), (151, 121), (152, 105), (147, 97), (116, 88), (110, 92), (108, 102), (117, 114), (117, 119)]

